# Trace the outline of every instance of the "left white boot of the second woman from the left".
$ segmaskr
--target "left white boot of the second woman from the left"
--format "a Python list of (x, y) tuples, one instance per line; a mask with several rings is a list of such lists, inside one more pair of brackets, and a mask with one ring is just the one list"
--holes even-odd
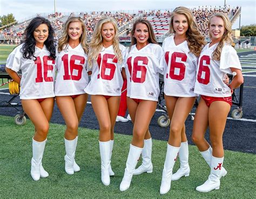
[(65, 139), (65, 150), (66, 155), (64, 157), (65, 160), (65, 171), (67, 174), (74, 174), (74, 160), (75, 160), (75, 153), (76, 153), (76, 145), (77, 145), (77, 138), (73, 140)]

